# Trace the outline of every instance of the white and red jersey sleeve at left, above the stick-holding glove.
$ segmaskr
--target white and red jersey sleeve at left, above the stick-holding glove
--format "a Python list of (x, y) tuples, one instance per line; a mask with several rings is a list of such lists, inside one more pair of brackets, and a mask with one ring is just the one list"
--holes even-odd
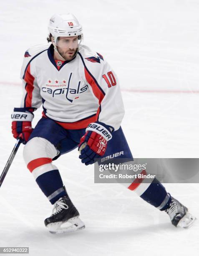
[(34, 56), (27, 56), (27, 51), (23, 59), (20, 78), (22, 79), (23, 87), (20, 107), (34, 111), (42, 104), (42, 97), (37, 83), (35, 59)]

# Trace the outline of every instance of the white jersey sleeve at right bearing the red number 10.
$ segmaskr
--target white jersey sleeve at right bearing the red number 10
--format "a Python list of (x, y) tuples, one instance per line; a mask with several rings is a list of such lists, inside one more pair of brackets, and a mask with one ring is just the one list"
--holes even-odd
[[(96, 57), (95, 57), (96, 58)], [(89, 89), (99, 104), (98, 121), (118, 130), (124, 116), (124, 106), (118, 78), (103, 57), (98, 54), (85, 60), (84, 72)]]

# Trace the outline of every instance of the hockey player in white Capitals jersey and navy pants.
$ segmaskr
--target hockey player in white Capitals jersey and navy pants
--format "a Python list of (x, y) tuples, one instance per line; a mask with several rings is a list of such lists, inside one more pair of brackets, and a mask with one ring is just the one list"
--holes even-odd
[[(48, 42), (25, 52), (21, 78), (23, 98), (14, 108), (12, 132), (25, 144), (23, 156), (37, 184), (54, 205), (45, 219), (51, 233), (83, 229), (79, 212), (66, 192), (58, 156), (78, 147), (83, 164), (123, 151), (132, 159), (121, 129), (123, 102), (116, 74), (103, 56), (82, 45), (82, 26), (73, 14), (50, 18)], [(32, 128), (33, 112), (43, 104), (43, 116)], [(128, 185), (142, 199), (169, 214), (175, 226), (189, 227), (194, 217), (163, 185)]]

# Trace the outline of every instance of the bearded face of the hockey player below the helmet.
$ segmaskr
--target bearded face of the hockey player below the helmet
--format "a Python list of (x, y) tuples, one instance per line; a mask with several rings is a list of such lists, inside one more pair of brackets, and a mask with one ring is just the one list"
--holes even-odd
[(60, 36), (56, 42), (57, 49), (66, 60), (73, 59), (79, 46), (78, 36)]

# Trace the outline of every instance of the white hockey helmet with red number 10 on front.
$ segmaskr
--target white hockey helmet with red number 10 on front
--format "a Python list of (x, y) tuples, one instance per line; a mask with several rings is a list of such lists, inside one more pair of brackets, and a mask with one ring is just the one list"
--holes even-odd
[(57, 42), (59, 36), (78, 36), (82, 39), (82, 26), (72, 13), (54, 14), (50, 18), (48, 31), (53, 36), (53, 41)]

